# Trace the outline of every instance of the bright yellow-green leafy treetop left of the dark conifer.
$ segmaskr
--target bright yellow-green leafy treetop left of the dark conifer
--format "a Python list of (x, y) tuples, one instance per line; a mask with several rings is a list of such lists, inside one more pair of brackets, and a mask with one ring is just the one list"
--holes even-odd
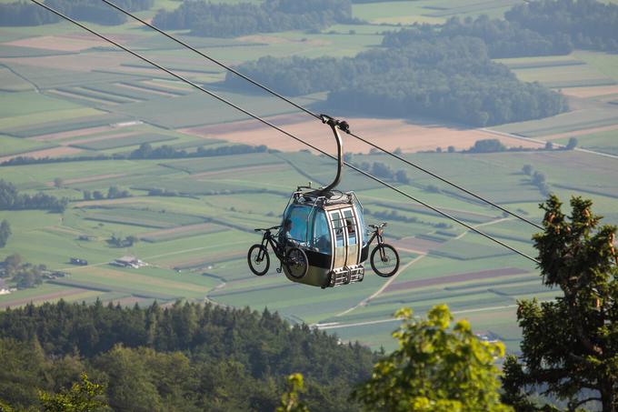
[(502, 343), (476, 337), (465, 320), (455, 323), (448, 307), (434, 306), (426, 320), (399, 310), (403, 325), (394, 332), (399, 348), (379, 361), (354, 398), (367, 410), (507, 411), (500, 402), (495, 357)]

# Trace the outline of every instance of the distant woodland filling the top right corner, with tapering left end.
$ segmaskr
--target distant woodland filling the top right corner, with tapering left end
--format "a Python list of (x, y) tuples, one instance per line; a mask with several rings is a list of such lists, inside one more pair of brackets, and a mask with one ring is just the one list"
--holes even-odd
[(618, 5), (595, 0), (535, 1), (516, 5), (506, 20), (453, 17), (444, 25), (413, 25), (386, 33), (383, 45), (404, 47), (435, 37), (478, 37), (492, 58), (568, 55), (574, 47), (618, 51)]

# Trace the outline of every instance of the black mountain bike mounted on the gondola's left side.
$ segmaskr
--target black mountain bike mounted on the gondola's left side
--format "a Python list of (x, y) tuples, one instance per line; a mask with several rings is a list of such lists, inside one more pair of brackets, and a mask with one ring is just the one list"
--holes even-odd
[[(271, 246), (274, 256), (277, 256), (281, 266), (285, 266), (290, 276), (301, 278), (307, 274), (309, 261), (303, 249), (296, 246), (285, 246), (278, 242), (271, 230), (280, 229), (281, 226), (268, 227), (267, 229), (255, 229), (256, 232), (263, 231), (262, 243), (249, 247), (247, 261), (249, 268), (257, 276), (264, 276), (270, 267), (270, 256), (268, 255), (268, 245)], [(277, 269), (281, 273), (281, 266)]]

